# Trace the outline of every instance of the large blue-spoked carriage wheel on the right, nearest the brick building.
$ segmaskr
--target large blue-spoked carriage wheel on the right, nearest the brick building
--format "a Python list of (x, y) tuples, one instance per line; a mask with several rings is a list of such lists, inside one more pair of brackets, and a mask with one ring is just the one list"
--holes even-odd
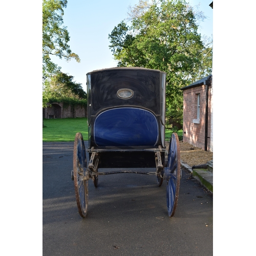
[(178, 203), (180, 190), (180, 144), (177, 133), (173, 133), (168, 150), (168, 162), (165, 168), (167, 180), (166, 202), (169, 217), (173, 217)]

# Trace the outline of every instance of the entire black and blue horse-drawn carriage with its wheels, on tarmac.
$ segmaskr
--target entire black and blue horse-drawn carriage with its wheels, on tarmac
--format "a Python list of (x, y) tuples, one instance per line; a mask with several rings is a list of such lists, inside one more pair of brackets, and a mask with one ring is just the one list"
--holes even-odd
[[(166, 74), (144, 68), (111, 68), (87, 74), (88, 148), (81, 133), (74, 142), (72, 179), (78, 211), (88, 209), (88, 181), (98, 186), (100, 175), (136, 173), (166, 180), (169, 217), (175, 213), (180, 186), (178, 135), (165, 148)], [(155, 172), (133, 168), (156, 167)], [(129, 168), (98, 172), (100, 168)]]

